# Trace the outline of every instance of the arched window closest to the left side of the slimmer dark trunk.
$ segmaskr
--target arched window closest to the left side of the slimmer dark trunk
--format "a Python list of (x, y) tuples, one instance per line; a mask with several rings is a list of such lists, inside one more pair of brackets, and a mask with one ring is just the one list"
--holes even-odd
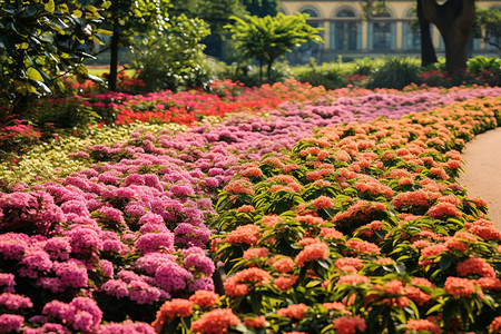
[(369, 48), (374, 51), (390, 51), (396, 48), (396, 26), (386, 9), (379, 11), (369, 22)]

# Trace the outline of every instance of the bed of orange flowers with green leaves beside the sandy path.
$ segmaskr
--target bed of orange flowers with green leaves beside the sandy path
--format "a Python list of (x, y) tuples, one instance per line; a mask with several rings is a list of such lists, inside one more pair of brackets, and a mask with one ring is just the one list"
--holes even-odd
[(328, 127), (240, 171), (217, 204), (225, 296), (210, 307), (187, 301), (183, 315), (165, 312), (168, 302), (155, 324), (498, 333), (501, 233), (454, 177), (458, 149), (497, 126), (500, 106)]

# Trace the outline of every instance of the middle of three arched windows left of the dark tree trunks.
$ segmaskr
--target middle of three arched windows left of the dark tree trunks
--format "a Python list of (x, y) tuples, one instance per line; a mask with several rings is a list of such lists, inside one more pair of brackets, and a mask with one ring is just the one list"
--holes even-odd
[(343, 7), (331, 22), (331, 49), (355, 51), (361, 49), (361, 23), (351, 7)]

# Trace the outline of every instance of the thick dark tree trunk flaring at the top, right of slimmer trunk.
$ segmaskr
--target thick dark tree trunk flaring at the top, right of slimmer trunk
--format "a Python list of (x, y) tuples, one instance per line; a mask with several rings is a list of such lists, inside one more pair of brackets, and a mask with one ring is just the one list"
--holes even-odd
[(466, 68), (468, 42), (475, 21), (474, 0), (422, 0), (423, 16), (434, 23), (445, 45), (445, 67), (450, 73)]

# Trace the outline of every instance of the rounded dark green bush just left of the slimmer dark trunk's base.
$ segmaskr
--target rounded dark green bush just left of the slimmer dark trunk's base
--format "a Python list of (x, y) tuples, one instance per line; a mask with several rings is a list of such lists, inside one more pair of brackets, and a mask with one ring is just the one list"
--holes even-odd
[(367, 88), (394, 88), (402, 89), (418, 81), (420, 66), (411, 58), (387, 58), (384, 65), (374, 70), (372, 81)]

